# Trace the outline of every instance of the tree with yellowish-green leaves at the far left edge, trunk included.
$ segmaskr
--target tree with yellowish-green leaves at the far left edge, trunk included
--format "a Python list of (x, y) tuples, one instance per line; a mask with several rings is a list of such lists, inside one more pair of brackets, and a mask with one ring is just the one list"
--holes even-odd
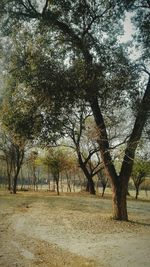
[[(17, 109), (13, 97), (9, 95), (5, 98), (0, 107), (2, 129), (0, 149), (4, 153), (6, 160), (8, 189), (12, 189), (13, 193), (16, 194), (18, 175), (23, 164), (25, 148), (28, 143), (27, 132), (30, 130), (29, 128), (24, 128), (25, 125), (24, 127), (20, 127), (20, 123), (25, 117), (22, 116), (21, 110), (19, 112)], [(24, 111), (23, 107), (22, 110)], [(21, 125), (23, 126), (23, 124)]]

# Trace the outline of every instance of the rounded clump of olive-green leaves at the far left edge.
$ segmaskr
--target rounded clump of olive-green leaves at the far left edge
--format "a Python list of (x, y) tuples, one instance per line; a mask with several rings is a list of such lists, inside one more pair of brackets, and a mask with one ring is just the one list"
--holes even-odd
[(7, 131), (25, 139), (33, 139), (41, 129), (42, 116), (31, 101), (18, 96), (3, 100), (1, 121)]

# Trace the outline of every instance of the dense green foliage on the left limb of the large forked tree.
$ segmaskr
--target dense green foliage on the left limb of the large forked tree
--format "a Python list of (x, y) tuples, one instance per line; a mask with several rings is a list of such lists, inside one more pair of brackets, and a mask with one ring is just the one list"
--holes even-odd
[[(49, 110), (53, 109), (54, 117), (57, 118), (64, 108), (68, 112), (68, 108), (78, 102), (79, 98), (89, 99), (95, 95), (99, 96), (104, 107), (107, 102), (110, 103), (110, 99), (112, 106), (122, 105), (131, 95), (134, 99), (137, 94), (137, 72), (124, 49), (118, 46), (116, 40), (113, 42), (111, 36), (112, 32), (113, 38), (118, 34), (122, 5), (119, 10), (117, 2), (111, 5), (110, 1), (101, 5), (96, 1), (48, 2), (45, 16), (57, 13), (56, 18), (48, 17), (49, 21), (53, 20), (53, 27), (50, 28), (44, 14), (41, 19), (33, 2), (32, 6), (29, 3), (31, 2), (25, 1), (23, 5), (22, 1), (13, 1), (16, 6), (14, 10), (11, 2), (9, 6), (6, 4), (12, 20), (19, 13), (23, 20), (25, 17), (22, 13), (29, 19), (39, 15), (39, 22), (25, 24), (20, 21), (19, 31), (18, 27), (14, 28), (9, 72), (13, 75), (15, 84), (23, 83), (25, 87), (30, 87), (36, 101), (39, 102), (42, 98), (45, 113), (49, 106)], [(56, 19), (60, 22), (59, 32)], [(83, 44), (82, 47), (80, 43)], [(86, 54), (87, 57), (92, 54), (94, 59), (90, 75), (87, 74)], [(69, 60), (68, 65), (66, 59)]]

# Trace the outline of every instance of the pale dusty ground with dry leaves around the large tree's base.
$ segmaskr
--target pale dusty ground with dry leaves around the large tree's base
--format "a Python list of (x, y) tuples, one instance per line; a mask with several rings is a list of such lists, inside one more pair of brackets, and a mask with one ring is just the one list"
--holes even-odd
[(111, 200), (50, 193), (0, 193), (2, 267), (148, 267), (150, 202), (128, 201), (129, 222)]

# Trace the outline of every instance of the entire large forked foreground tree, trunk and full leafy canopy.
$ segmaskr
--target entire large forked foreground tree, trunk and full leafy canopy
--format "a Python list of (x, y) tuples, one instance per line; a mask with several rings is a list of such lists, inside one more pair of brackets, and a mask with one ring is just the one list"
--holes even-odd
[[(23, 85), (30, 92), (28, 97), (36, 99), (43, 121), (51, 129), (54, 126), (60, 129), (65, 112), (71, 115), (72, 107), (84, 100), (97, 125), (99, 151), (113, 190), (114, 218), (119, 220), (128, 219), (128, 181), (150, 111), (150, 73), (145, 65), (149, 9), (148, 0), (45, 0), (42, 3), (3, 0), (0, 3), (3, 33), (11, 40), (8, 76), (13, 81), (12, 92)], [(128, 45), (120, 44), (118, 39), (123, 33), (127, 11), (132, 12), (136, 27), (134, 44), (143, 49), (140, 61), (136, 62), (129, 58)], [(142, 87), (139, 85), (141, 71), (148, 75)], [(124, 107), (128, 115), (137, 102), (118, 174), (106, 113), (116, 109), (119, 112)], [(47, 129), (50, 131), (50, 127)]]

